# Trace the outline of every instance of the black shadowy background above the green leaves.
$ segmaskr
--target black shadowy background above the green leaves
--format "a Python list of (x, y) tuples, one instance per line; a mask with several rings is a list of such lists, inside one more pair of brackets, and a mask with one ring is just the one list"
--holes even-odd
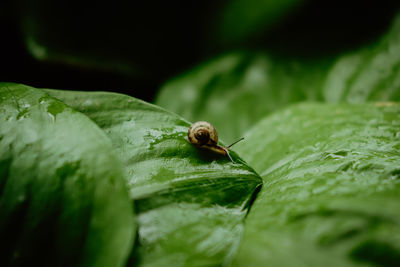
[[(152, 101), (165, 81), (224, 52), (334, 57), (368, 45), (387, 30), (399, 2), (300, 1), (274, 25), (243, 40), (221, 42), (214, 30), (229, 1), (3, 1), (0, 81), (114, 91)], [(104, 64), (35, 59), (26, 49), (30, 33), (61, 54)], [(128, 71), (104, 68), (114, 59)]]

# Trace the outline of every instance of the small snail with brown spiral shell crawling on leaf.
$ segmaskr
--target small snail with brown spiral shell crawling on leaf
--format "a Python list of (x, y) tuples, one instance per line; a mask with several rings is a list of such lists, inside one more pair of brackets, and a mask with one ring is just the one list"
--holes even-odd
[(218, 133), (215, 127), (209, 122), (198, 121), (189, 127), (188, 139), (189, 142), (194, 146), (201, 149), (207, 149), (224, 156), (227, 155), (232, 163), (235, 163), (231, 155), (229, 155), (228, 149), (237, 142), (242, 141), (244, 138), (240, 138), (227, 147), (220, 146), (218, 145)]

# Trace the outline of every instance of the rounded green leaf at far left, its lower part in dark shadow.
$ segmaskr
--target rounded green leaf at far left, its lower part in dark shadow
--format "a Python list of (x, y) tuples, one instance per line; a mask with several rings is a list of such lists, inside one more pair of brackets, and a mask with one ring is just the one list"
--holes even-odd
[(124, 178), (86, 116), (0, 84), (0, 265), (123, 266), (135, 234)]

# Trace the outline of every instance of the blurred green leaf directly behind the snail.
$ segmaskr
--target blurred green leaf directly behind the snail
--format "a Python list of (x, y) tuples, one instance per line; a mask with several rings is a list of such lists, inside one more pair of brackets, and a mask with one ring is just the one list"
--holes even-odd
[(267, 113), (320, 99), (329, 64), (228, 54), (167, 83), (156, 103), (191, 120), (207, 118), (233, 142)]

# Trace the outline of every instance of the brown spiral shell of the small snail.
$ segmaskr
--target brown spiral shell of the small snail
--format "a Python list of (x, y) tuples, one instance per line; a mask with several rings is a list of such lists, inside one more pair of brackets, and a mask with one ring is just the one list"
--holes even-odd
[(211, 123), (198, 121), (189, 127), (188, 139), (196, 146), (216, 145), (218, 144), (218, 133)]

